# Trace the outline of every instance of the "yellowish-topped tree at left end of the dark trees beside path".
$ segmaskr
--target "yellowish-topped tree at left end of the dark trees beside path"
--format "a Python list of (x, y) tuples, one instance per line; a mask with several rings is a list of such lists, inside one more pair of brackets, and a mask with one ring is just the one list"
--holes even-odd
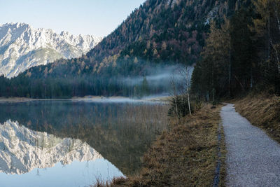
[[(231, 77), (230, 34), (228, 20), (221, 28), (211, 22), (210, 34), (202, 51), (202, 60), (193, 72), (193, 91), (207, 101), (215, 101), (216, 95), (228, 90)], [(210, 98), (211, 97), (211, 98)]]

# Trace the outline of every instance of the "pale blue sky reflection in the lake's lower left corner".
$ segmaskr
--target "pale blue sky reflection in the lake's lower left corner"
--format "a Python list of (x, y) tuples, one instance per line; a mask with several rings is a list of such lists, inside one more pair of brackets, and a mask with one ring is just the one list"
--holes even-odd
[[(109, 172), (108, 172), (109, 171)], [(70, 165), (58, 162), (54, 167), (34, 169), (25, 174), (0, 173), (1, 187), (77, 187), (91, 186), (99, 180), (123, 176), (108, 160), (73, 161)]]

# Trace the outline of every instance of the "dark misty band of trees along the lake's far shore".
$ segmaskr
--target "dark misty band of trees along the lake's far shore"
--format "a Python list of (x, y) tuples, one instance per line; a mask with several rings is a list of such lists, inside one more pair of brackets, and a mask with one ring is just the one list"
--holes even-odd
[[(143, 63), (143, 62), (141, 62)], [(64, 66), (66, 69), (66, 66)], [(47, 67), (45, 67), (47, 69)], [(170, 69), (172, 73), (172, 68)], [(153, 74), (160, 75), (164, 66), (150, 67)], [(89, 69), (90, 71), (91, 69)], [(146, 71), (147, 74), (150, 71)], [(155, 75), (155, 76), (156, 76)], [(172, 74), (169, 74), (172, 76)], [(151, 79), (151, 80), (150, 80)], [(21, 74), (12, 79), (0, 77), (0, 96), (31, 98), (71, 98), (85, 95), (125, 96), (142, 98), (148, 95), (167, 94), (170, 90), (169, 77), (164, 82), (153, 80), (153, 76), (110, 76), (82, 74), (80, 76), (59, 76), (31, 78)], [(165, 83), (167, 82), (167, 83)]]

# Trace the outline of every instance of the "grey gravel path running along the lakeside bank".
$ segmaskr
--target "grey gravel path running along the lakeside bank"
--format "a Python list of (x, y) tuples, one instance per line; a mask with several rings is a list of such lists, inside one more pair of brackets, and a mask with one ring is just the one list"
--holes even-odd
[(223, 106), (221, 118), (227, 147), (227, 186), (280, 186), (280, 146), (265, 132)]

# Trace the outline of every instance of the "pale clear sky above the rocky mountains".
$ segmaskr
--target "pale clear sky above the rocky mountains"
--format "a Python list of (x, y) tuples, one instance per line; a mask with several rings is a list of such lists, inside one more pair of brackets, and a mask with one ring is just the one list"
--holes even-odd
[(0, 0), (0, 24), (106, 36), (145, 0)]

